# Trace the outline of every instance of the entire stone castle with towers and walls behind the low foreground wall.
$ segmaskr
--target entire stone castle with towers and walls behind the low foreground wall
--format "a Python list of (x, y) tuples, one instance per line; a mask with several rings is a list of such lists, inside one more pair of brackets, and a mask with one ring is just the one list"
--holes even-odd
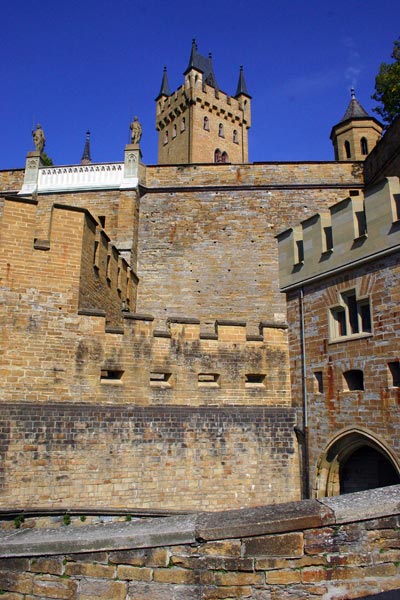
[(157, 165), (132, 124), (121, 162), (0, 171), (2, 509), (399, 482), (400, 122), (353, 93), (335, 160), (252, 164), (250, 110), (194, 42)]

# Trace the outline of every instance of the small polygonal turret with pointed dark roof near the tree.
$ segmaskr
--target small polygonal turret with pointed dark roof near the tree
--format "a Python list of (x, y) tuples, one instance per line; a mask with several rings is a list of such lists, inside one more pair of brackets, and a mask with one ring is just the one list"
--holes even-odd
[(365, 160), (382, 136), (383, 126), (371, 117), (351, 88), (351, 100), (343, 118), (332, 127), (335, 160)]

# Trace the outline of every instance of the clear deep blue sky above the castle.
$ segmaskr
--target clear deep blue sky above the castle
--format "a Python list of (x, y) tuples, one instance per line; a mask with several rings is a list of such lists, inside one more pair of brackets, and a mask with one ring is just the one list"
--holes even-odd
[(7, 3), (2, 15), (0, 169), (23, 167), (40, 122), (55, 164), (119, 161), (129, 122), (143, 125), (143, 161), (157, 162), (155, 102), (163, 66), (171, 91), (191, 47), (212, 52), (222, 90), (243, 65), (253, 97), (250, 161), (332, 160), (332, 125), (350, 87), (371, 111), (375, 75), (400, 35), (394, 0)]

